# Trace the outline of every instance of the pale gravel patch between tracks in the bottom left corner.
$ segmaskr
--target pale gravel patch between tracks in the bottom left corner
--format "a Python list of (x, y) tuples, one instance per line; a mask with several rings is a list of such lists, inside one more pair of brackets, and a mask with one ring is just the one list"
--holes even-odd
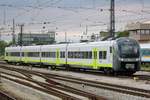
[(37, 91), (3, 78), (1, 84), (6, 91), (13, 93), (17, 97), (23, 98), (23, 100), (61, 100), (58, 97)]

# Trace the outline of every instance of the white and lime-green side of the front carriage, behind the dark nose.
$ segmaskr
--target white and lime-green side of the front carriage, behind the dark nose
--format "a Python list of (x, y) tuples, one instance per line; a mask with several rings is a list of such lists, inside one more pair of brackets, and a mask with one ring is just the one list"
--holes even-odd
[(70, 44), (67, 63), (81, 68), (112, 68), (110, 45), (110, 42)]

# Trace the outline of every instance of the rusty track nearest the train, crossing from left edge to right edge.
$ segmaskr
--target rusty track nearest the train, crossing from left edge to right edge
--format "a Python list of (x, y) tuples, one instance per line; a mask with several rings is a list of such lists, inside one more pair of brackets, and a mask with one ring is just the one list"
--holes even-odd
[(110, 84), (110, 83), (104, 83), (104, 82), (97, 82), (97, 81), (91, 81), (91, 80), (85, 80), (85, 79), (79, 79), (75, 77), (70, 77), (70, 76), (63, 76), (63, 75), (58, 75), (58, 74), (51, 74), (51, 73), (43, 73), (43, 72), (38, 72), (38, 71), (32, 71), (32, 70), (25, 70), (25, 69), (18, 69), (18, 68), (10, 68), (7, 67), (6, 65), (3, 65), (6, 69), (17, 69), (24, 71), (25, 73), (30, 73), (30, 74), (37, 74), (41, 75), (42, 77), (45, 77), (46, 81), (49, 83), (55, 83), (53, 80), (61, 80), (61, 81), (66, 81), (66, 82), (71, 82), (71, 83), (76, 83), (76, 84), (84, 84), (86, 86), (91, 86), (95, 88), (101, 88), (101, 89), (107, 89), (111, 91), (116, 91), (116, 92), (121, 92), (123, 94), (130, 94), (133, 96), (140, 96), (140, 97), (145, 97), (145, 98), (150, 98), (150, 90), (144, 90), (144, 89), (139, 89), (139, 88), (133, 88), (133, 87), (128, 87), (128, 86), (122, 86), (122, 85), (115, 85), (115, 84)]

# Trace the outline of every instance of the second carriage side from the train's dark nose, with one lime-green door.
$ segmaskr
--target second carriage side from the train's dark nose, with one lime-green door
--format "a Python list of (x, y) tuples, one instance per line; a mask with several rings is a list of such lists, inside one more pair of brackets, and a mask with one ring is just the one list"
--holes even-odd
[(66, 64), (65, 58), (66, 45), (45, 45), (41, 47), (41, 63), (45, 65), (64, 65)]

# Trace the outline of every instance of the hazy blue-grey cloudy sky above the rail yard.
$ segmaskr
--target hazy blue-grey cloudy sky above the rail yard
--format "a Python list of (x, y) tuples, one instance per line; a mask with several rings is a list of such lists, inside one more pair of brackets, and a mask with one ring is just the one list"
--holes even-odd
[[(15, 19), (24, 32), (56, 31), (58, 37), (79, 38), (83, 32), (98, 34), (109, 29), (110, 0), (0, 0), (0, 31), (11, 33)], [(116, 31), (131, 22), (150, 20), (150, 0), (115, 0)]]

